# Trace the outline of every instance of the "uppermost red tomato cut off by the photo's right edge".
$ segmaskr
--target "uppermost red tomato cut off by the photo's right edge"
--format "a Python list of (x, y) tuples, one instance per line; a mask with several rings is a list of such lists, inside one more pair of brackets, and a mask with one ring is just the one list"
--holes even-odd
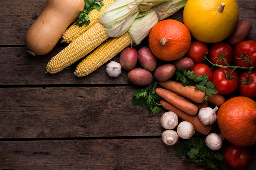
[(256, 66), (256, 41), (247, 40), (237, 44), (234, 48), (233, 61), (236, 66)]

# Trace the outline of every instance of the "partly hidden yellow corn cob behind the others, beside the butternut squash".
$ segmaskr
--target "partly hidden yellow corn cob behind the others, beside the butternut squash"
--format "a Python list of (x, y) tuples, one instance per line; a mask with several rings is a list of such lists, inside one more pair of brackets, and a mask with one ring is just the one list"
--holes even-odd
[(62, 35), (61, 42), (65, 42), (67, 44), (71, 43), (74, 39), (79, 37), (83, 32), (87, 31), (88, 28), (90, 28), (93, 24), (96, 22), (99, 22), (99, 17), (105, 11), (115, 0), (102, 0), (103, 6), (101, 7), (101, 10), (94, 8), (89, 13), (90, 15), (90, 23), (86, 26), (83, 25), (79, 27), (78, 24), (72, 24), (69, 28), (66, 29), (66, 31)]

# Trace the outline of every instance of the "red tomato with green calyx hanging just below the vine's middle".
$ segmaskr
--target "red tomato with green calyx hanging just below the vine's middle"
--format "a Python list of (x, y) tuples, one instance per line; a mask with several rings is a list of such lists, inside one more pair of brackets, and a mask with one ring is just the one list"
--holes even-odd
[(217, 68), (213, 71), (211, 81), (219, 94), (231, 94), (237, 89), (238, 75), (232, 71), (231, 68)]

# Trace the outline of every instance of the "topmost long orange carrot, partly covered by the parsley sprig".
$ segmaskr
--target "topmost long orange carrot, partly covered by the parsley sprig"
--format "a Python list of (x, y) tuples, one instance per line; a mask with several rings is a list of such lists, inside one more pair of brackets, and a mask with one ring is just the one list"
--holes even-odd
[(205, 92), (195, 89), (194, 86), (184, 86), (182, 83), (172, 80), (159, 81), (158, 84), (194, 102), (202, 103), (205, 101)]

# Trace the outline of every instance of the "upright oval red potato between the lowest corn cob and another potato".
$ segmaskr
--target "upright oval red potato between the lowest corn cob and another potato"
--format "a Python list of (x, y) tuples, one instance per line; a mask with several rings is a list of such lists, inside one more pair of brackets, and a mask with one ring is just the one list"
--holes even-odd
[(137, 50), (133, 47), (125, 48), (119, 57), (119, 63), (122, 68), (127, 71), (130, 71), (135, 68), (138, 61), (138, 53)]

